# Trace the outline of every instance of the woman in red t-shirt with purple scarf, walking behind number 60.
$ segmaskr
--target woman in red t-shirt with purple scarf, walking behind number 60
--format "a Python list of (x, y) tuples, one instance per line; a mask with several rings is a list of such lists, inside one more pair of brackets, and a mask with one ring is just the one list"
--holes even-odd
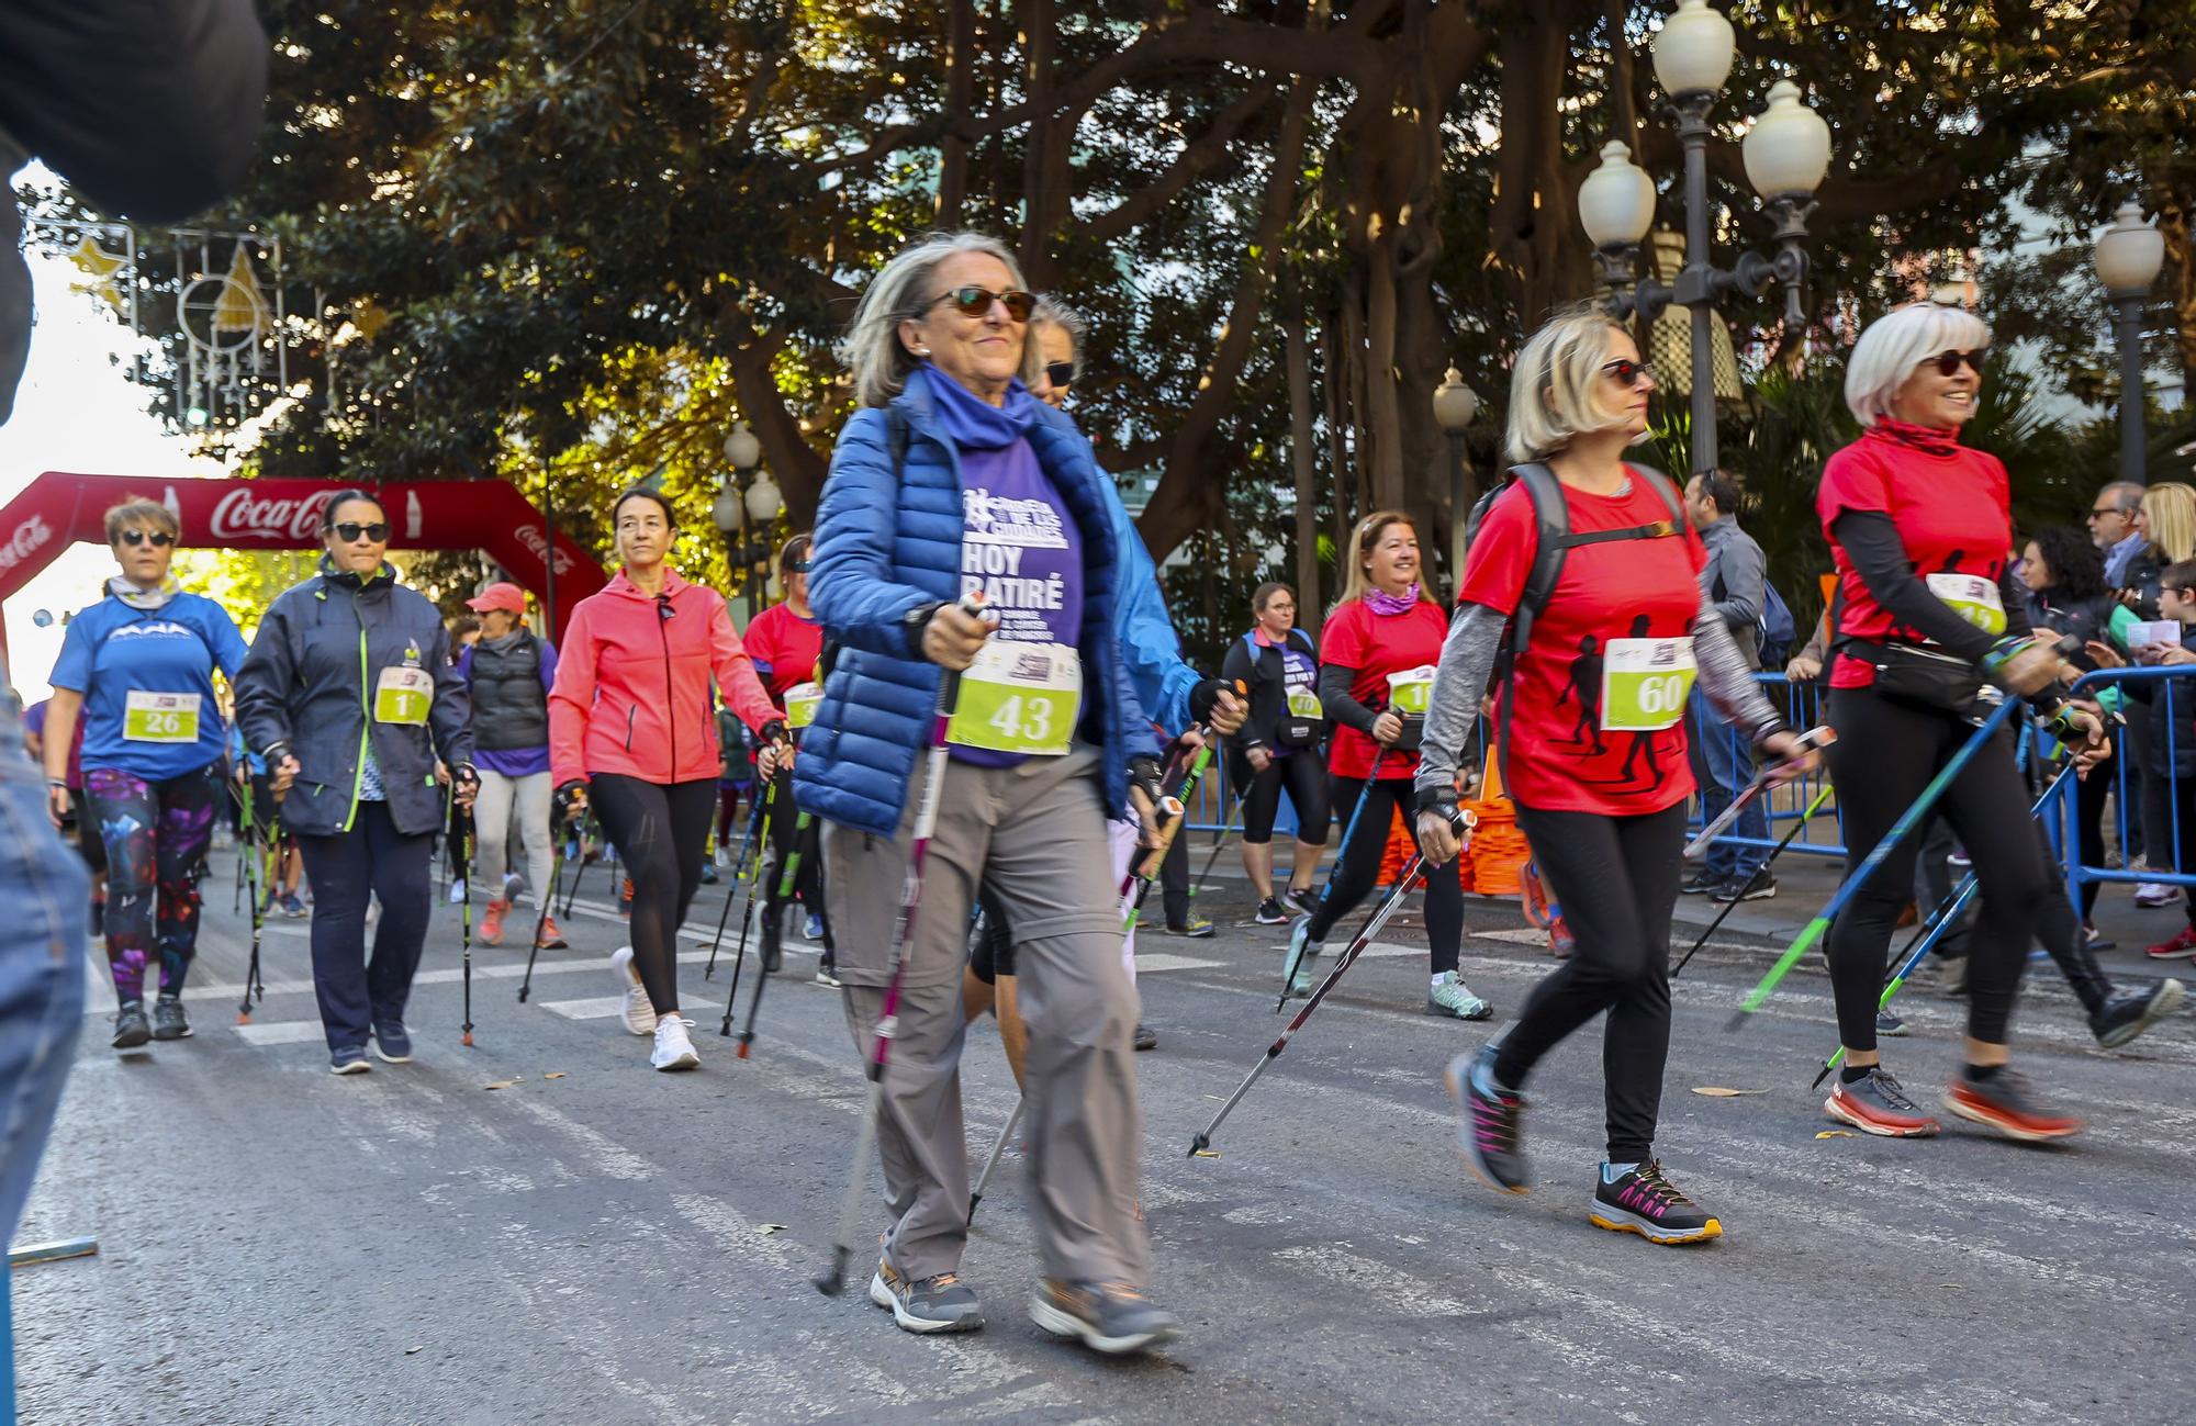
[[(1379, 880), (1388, 827), (1410, 805), (1425, 693), (1447, 627), (1423, 584), (1419, 527), (1403, 511), (1379, 509), (1359, 520), (1342, 568), (1342, 599), (1320, 630), (1320, 704), (1335, 726), (1326, 770), (1333, 777), (1331, 805), (1342, 818), (1342, 849), (1318, 906), (1289, 928), (1289, 996), (1311, 994), (1326, 935)], [(1425, 882), (1425, 939), (1432, 970), (1425, 1014), (1452, 1020), (1493, 1016), (1493, 1005), (1471, 994), (1456, 970), (1465, 941), (1465, 891), (1454, 869)]]

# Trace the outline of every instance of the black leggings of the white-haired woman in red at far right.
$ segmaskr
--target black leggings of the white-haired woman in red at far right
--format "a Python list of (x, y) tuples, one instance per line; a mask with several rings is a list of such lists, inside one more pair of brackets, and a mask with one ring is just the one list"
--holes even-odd
[[(1831, 689), (1829, 777), (1845, 820), (1847, 867), (1875, 849), (1922, 788), (1974, 735), (1950, 713), (1915, 709), (1875, 689)], [(2060, 965), (2075, 961), (2080, 924), (2064, 884), (2044, 858), (2014, 766), (2012, 737), (1994, 737), (1937, 801), (1981, 880), (1983, 908), (1968, 939), (1968, 1035), (2005, 1044), (2014, 994), (2038, 939)], [(1537, 847), (1535, 847), (1537, 849)], [(1884, 952), (1900, 910), (1913, 895), (1919, 838), (1908, 836), (1847, 904), (1823, 946), (1829, 987), (1838, 998), (1838, 1040), (1849, 1051), (1875, 1049), (1875, 1003), (1884, 989)], [(2064, 908), (2064, 915), (2060, 915)], [(1564, 908), (1570, 910), (1568, 906)]]

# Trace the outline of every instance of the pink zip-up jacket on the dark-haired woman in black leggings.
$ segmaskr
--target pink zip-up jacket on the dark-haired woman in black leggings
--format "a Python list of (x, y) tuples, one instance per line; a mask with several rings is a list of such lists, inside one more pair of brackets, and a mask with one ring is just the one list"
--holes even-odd
[(624, 570), (571, 612), (549, 691), (549, 772), (558, 788), (597, 772), (650, 783), (716, 779), (716, 704), (760, 733), (777, 717), (740, 647), (725, 597), (663, 570), (643, 595)]

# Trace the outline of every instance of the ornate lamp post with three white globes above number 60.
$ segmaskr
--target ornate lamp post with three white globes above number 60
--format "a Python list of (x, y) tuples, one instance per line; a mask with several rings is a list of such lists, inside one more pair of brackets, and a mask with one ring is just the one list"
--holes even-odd
[(1715, 469), (1713, 322), (1733, 294), (1750, 298), (1770, 283), (1785, 292), (1785, 331), (1805, 320), (1801, 285), (1807, 281), (1807, 217), (1814, 191), (1829, 171), (1829, 125), (1801, 103), (1790, 79), (1770, 88), (1768, 110), (1741, 145), (1746, 180), (1777, 222), (1777, 257), (1741, 252), (1730, 268), (1708, 261), (1708, 112), (1730, 77), (1735, 39), (1730, 20), (1706, 0), (1680, 0), (1678, 13), (1654, 42), (1654, 72), (1671, 94), (1678, 138), (1684, 143), (1684, 270), (1676, 287), (1647, 279), (1634, 283), (1638, 248), (1654, 224), (1654, 180), (1632, 162), (1632, 149), (1607, 143), (1601, 167), (1579, 189), (1579, 224), (1594, 241), (1610, 312), (1654, 320), (1671, 303), (1693, 314), (1693, 469)]

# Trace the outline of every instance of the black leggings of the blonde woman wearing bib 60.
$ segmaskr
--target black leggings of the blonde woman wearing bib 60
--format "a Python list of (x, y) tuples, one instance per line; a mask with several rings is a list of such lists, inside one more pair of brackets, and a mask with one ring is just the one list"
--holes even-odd
[(1517, 827), (1564, 906), (1577, 950), (1526, 996), (1495, 1051), (1495, 1079), (1524, 1088), (1542, 1055), (1610, 1011), (1601, 1031), (1610, 1163), (1643, 1163), (1654, 1154), (1669, 1060), (1669, 913), (1678, 904), (1684, 803), (1643, 816), (1535, 812), (1520, 803)]

